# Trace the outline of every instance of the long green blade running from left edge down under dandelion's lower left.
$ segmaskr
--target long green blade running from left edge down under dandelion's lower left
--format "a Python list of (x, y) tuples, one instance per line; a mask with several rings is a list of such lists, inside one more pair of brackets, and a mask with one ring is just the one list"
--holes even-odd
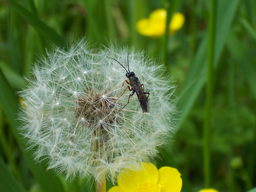
[(3, 108), (4, 115), (12, 129), (12, 133), (19, 145), (19, 148), (28, 163), (30, 171), (33, 173), (44, 191), (64, 191), (60, 180), (55, 177), (51, 171), (46, 172), (46, 169), (42, 164), (36, 163), (33, 160), (33, 151), (25, 150), (27, 148), (25, 145), (26, 142), (24, 142), (22, 135), (17, 129), (20, 126), (17, 120), (18, 96), (13, 92), (2, 71), (0, 71), (0, 92), (0, 104)]

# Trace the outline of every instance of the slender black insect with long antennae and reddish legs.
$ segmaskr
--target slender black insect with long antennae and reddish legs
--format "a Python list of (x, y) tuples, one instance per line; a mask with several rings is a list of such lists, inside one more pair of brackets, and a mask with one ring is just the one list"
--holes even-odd
[[(130, 69), (129, 69), (129, 59), (128, 59), (128, 58), (129, 58), (129, 53), (128, 53), (128, 55), (127, 55), (128, 71), (126, 70), (126, 68), (124, 68), (124, 66), (123, 66), (121, 63), (119, 63), (119, 61), (117, 61), (117, 60), (115, 60), (115, 59), (113, 59), (113, 58), (110, 58), (110, 59), (113, 59), (113, 60), (115, 60), (116, 62), (118, 62), (118, 63), (125, 69), (125, 71), (126, 71), (125, 76), (129, 79), (129, 82), (128, 82), (127, 80), (124, 81), (124, 83), (127, 83), (127, 84), (128, 84), (127, 87), (125, 88), (124, 92), (125, 92), (126, 89), (128, 88), (129, 91), (132, 92), (132, 94), (129, 95), (128, 101), (127, 101), (127, 103), (124, 105), (124, 107), (129, 103), (130, 97), (131, 97), (131, 96), (134, 94), (134, 92), (135, 92), (136, 95), (137, 95), (137, 97), (138, 97), (138, 100), (139, 100), (139, 103), (140, 103), (140, 107), (141, 107), (143, 113), (144, 113), (144, 112), (148, 112), (148, 111), (149, 111), (149, 105), (148, 105), (149, 92), (144, 92), (144, 84), (140, 84), (139, 78), (135, 76), (134, 72), (130, 72)], [(122, 86), (124, 86), (124, 83), (123, 83)], [(131, 88), (130, 88), (129, 85), (131, 86)], [(143, 88), (142, 88), (142, 86), (143, 86)], [(123, 92), (123, 94), (124, 94), (124, 92)], [(123, 94), (122, 94), (122, 95), (123, 95)], [(122, 96), (122, 95), (121, 95), (121, 96)], [(146, 95), (148, 95), (148, 96), (146, 97)], [(120, 97), (121, 97), (121, 96), (120, 96)], [(120, 97), (119, 97), (119, 98), (120, 98)], [(123, 108), (124, 108), (124, 107), (123, 107)]]

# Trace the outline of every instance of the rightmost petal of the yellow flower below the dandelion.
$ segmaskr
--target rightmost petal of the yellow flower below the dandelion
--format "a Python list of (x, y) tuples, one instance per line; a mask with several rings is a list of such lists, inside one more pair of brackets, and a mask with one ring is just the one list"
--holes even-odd
[(172, 167), (161, 167), (158, 185), (161, 186), (162, 192), (180, 192), (182, 180), (179, 171)]

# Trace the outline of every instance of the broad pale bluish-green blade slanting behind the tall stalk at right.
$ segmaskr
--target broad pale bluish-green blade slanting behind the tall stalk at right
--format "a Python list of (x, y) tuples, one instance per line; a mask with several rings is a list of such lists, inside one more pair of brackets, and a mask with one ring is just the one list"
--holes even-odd
[[(218, 1), (214, 45), (214, 68), (217, 67), (217, 63), (226, 43), (231, 24), (236, 16), (236, 10), (239, 3), (240, 0), (234, 0), (232, 3), (230, 3), (228, 0)], [(206, 73), (207, 65), (207, 38), (208, 36), (205, 35), (198, 51), (196, 52), (196, 57), (193, 60), (187, 74), (185, 86), (183, 91), (180, 93), (180, 98), (177, 102), (177, 107), (181, 111), (178, 117), (179, 125), (181, 125), (188, 116), (189, 111), (193, 107), (198, 95), (205, 85), (206, 76), (205, 79), (203, 76)]]

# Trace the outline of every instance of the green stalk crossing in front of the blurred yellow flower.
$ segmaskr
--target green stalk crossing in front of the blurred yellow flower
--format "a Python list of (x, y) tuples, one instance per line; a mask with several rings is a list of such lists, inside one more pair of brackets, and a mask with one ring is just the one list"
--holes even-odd
[(165, 23), (165, 32), (162, 38), (162, 53), (161, 53), (162, 62), (165, 65), (167, 65), (167, 44), (168, 44), (169, 24), (179, 4), (180, 4), (180, 0), (173, 0), (173, 1), (169, 0), (166, 6), (167, 15), (166, 15), (166, 23)]

